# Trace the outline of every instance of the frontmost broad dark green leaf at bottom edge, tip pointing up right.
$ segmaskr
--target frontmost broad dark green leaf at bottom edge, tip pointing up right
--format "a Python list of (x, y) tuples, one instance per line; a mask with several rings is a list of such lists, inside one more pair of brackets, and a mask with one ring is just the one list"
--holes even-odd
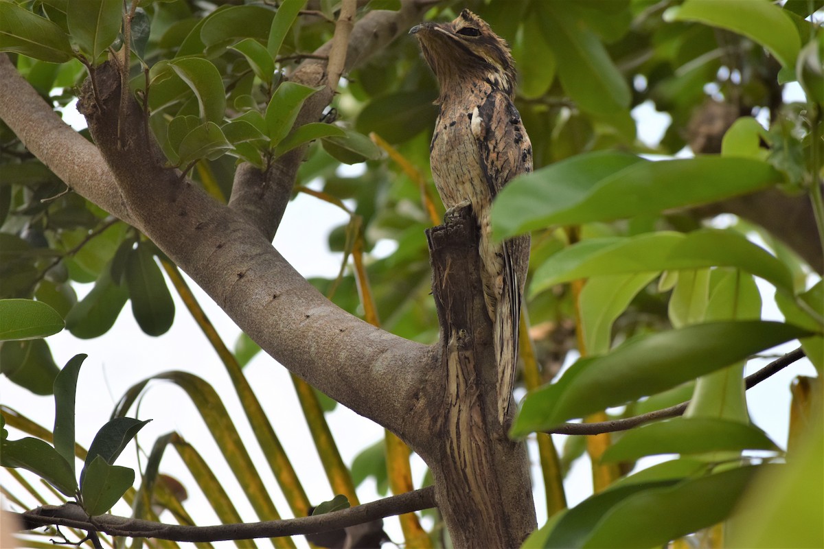
[(660, 547), (719, 523), (762, 468), (734, 468), (632, 494), (603, 515), (578, 547)]

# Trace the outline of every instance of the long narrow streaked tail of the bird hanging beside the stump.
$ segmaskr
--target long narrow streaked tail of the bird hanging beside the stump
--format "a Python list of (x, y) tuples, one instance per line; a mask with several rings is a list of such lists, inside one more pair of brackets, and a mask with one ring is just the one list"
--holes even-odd
[(494, 316), (494, 349), (498, 356), (498, 420), (509, 410), (517, 365), (518, 323), (521, 320), (521, 286), (508, 242), (503, 243), (503, 287)]

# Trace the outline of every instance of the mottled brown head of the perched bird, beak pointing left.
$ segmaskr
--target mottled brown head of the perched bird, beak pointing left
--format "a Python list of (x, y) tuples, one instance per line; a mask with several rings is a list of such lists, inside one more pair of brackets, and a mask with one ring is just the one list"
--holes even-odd
[(512, 95), (515, 63), (506, 40), (486, 21), (464, 10), (449, 23), (427, 22), (410, 30), (420, 43), (424, 59), (432, 67), (441, 93), (467, 80), (486, 80)]

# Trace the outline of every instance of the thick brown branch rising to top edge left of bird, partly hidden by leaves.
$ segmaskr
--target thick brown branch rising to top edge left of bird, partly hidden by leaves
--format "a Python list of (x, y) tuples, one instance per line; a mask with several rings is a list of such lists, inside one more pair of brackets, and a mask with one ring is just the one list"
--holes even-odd
[[(348, 2), (344, 2), (346, 7)], [(312, 58), (307, 58), (300, 67), (289, 76), (290, 81), (304, 86), (325, 86), (312, 95), (303, 105), (295, 121), (295, 127), (321, 119), (323, 109), (330, 104), (335, 95), (335, 88), (329, 86), (334, 72), (335, 86), (341, 74), (351, 70), (369, 55), (380, 51), (386, 44), (402, 34), (414, 22), (419, 21), (424, 11), (432, 5), (431, 0), (402, 0), (400, 10), (390, 12), (375, 10), (368, 12), (352, 26), (349, 12), (341, 10), (335, 36), (316, 49)], [(351, 28), (351, 32), (347, 32)], [(327, 61), (328, 60), (328, 61)], [(297, 169), (303, 160), (306, 147), (281, 156), (269, 166), (269, 170), (260, 170), (251, 177), (244, 174), (236, 177), (232, 187), (229, 205), (241, 212), (246, 220), (257, 226), (269, 240), (274, 238), (283, 208), (291, 198)]]

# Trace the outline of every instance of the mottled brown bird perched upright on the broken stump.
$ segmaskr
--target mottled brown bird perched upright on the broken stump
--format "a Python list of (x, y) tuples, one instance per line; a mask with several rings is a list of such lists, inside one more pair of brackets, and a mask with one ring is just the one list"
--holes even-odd
[(481, 281), (498, 361), (498, 419), (507, 417), (517, 365), (518, 324), (529, 266), (529, 235), (494, 242), (492, 201), (531, 172), (532, 147), (513, 103), (515, 63), (506, 40), (463, 10), (453, 21), (410, 29), (440, 88), (429, 146), (435, 187), (448, 212), (471, 204), (480, 231)]

